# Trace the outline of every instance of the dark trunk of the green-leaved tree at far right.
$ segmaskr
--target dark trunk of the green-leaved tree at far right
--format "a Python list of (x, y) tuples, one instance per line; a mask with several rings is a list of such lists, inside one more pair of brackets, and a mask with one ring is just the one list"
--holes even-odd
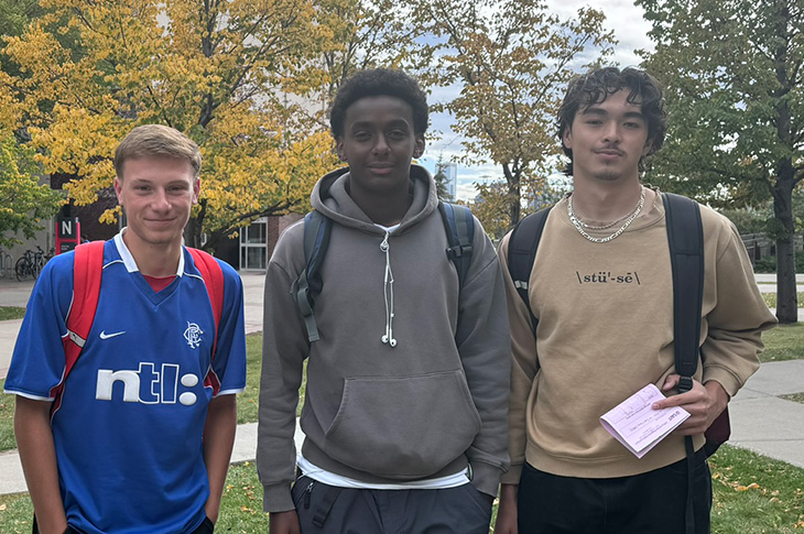
[(779, 323), (798, 322), (798, 297), (795, 288), (795, 249), (793, 247), (793, 186), (795, 171), (790, 159), (779, 165), (773, 187), (773, 212), (780, 222), (776, 238), (776, 317)]

